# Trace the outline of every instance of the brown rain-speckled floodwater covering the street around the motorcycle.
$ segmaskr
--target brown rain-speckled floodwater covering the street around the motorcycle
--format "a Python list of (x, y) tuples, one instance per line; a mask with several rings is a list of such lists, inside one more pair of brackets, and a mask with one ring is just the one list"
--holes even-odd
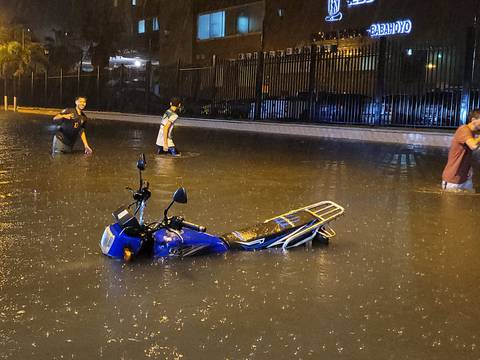
[[(445, 149), (92, 120), (50, 156), (48, 117), (0, 114), (1, 359), (478, 359), (480, 197), (445, 195)], [(333, 200), (328, 246), (123, 264), (99, 240), (137, 185), (156, 220), (222, 234)], [(478, 175), (477, 175), (478, 179)], [(477, 182), (480, 180), (477, 180)]]

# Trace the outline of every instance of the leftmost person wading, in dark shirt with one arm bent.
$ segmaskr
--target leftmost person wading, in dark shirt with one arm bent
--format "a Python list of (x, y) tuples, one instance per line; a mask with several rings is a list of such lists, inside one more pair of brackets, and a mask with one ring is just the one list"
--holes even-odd
[(77, 96), (75, 105), (75, 109), (64, 109), (53, 118), (54, 123), (58, 125), (58, 130), (53, 137), (53, 153), (72, 152), (79, 136), (82, 139), (85, 154), (90, 155), (92, 153), (92, 148), (88, 145), (85, 133), (85, 124), (88, 118), (83, 112), (87, 106), (87, 98), (85, 96)]

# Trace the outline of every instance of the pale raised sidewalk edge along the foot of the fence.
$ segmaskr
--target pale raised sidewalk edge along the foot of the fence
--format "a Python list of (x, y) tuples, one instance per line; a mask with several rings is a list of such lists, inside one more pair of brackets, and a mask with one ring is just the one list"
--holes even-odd
[[(18, 112), (55, 115), (60, 109), (18, 107)], [(116, 112), (86, 111), (93, 119), (128, 121), (143, 124), (159, 124), (159, 116), (125, 114)], [(257, 122), (219, 119), (199, 119), (181, 117), (177, 126), (214, 128), (234, 131), (258, 133), (299, 135), (319, 138), (346, 139), (369, 142), (385, 142), (421, 146), (449, 147), (453, 131), (449, 130), (417, 130), (393, 128), (365, 128), (347, 126), (325, 126), (278, 122)]]

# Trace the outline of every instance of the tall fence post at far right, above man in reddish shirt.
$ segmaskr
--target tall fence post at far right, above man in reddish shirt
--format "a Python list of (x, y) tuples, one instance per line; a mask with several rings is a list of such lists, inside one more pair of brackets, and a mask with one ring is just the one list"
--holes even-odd
[(465, 44), (465, 71), (463, 73), (462, 97), (460, 100), (460, 124), (467, 123), (470, 110), (470, 90), (475, 62), (475, 28), (468, 27)]

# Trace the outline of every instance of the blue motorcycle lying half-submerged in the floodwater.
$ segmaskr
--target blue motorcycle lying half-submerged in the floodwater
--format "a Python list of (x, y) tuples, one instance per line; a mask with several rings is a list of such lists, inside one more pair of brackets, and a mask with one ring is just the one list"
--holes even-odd
[(145, 166), (145, 155), (142, 154), (137, 161), (139, 188), (127, 188), (132, 192), (134, 202), (113, 212), (115, 223), (103, 232), (100, 247), (109, 257), (130, 261), (141, 254), (157, 258), (185, 257), (224, 253), (231, 249), (287, 250), (313, 241), (328, 243), (335, 236), (329, 223), (345, 211), (332, 201), (321, 201), (242, 230), (215, 236), (208, 234), (204, 226), (190, 223), (181, 216), (168, 215), (174, 203), (187, 203), (186, 190), (179, 188), (165, 209), (163, 219), (147, 224), (144, 211), (151, 192), (149, 183), (142, 178)]

